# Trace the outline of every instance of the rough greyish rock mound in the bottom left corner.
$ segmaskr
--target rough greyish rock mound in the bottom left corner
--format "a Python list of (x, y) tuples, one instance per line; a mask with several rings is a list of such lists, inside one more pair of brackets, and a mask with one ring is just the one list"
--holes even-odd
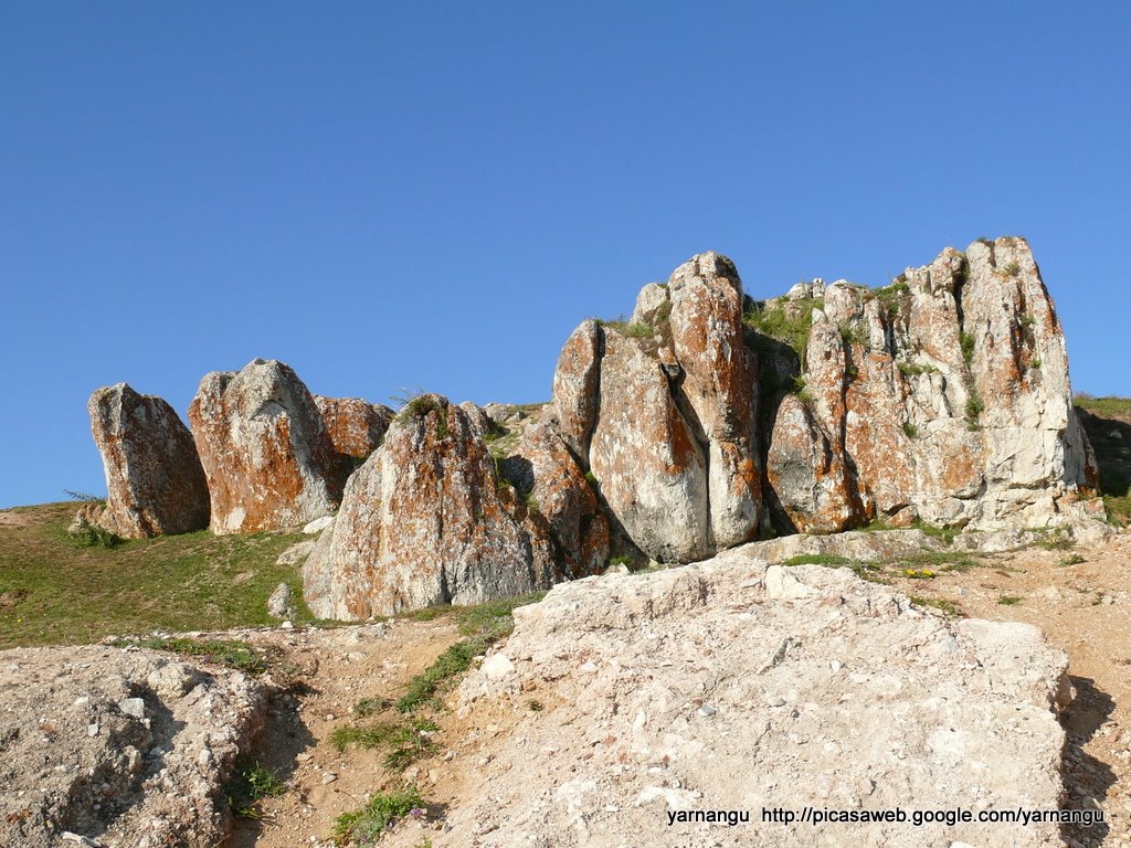
[(211, 848), (264, 689), (156, 651), (0, 652), (0, 845)]

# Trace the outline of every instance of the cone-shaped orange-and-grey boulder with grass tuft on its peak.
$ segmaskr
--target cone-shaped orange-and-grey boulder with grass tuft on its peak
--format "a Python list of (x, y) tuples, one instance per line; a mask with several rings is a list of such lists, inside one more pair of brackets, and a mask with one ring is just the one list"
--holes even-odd
[(326, 618), (365, 618), (432, 604), (476, 604), (547, 588), (552, 545), (467, 413), (413, 400), (349, 478), (342, 510), (303, 569)]

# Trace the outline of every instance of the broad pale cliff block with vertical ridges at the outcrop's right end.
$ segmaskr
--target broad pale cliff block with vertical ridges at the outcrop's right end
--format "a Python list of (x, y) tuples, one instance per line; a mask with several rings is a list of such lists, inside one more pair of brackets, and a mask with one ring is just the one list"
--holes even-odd
[[(841, 280), (822, 295), (804, 393), (858, 492), (849, 525), (873, 511), (896, 523), (1043, 525), (1093, 485), (1064, 337), (1024, 240), (948, 249), (884, 289)], [(785, 435), (776, 427), (774, 441)]]

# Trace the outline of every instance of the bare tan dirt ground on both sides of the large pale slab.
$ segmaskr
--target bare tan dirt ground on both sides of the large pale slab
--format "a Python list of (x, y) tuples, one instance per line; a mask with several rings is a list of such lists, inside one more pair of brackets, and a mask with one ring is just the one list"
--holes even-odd
[[(1082, 560), (1076, 562), (1076, 560)], [(934, 579), (895, 577), (909, 596), (950, 602), (972, 617), (1024, 621), (1039, 626), (1068, 652), (1077, 691), (1063, 717), (1069, 733), (1064, 781), (1067, 806), (1098, 803), (1107, 822), (1090, 830), (1068, 830), (1069, 843), (1131, 848), (1131, 535), (1103, 548), (1026, 551), (985, 557), (986, 565)], [(1003, 603), (1004, 602), (1004, 603)], [(228, 635), (283, 649), (297, 684), (279, 694), (257, 756), (287, 781), (279, 797), (260, 804), (262, 817), (238, 822), (227, 848), (328, 846), (334, 821), (363, 804), (369, 793), (406, 782), (429, 802), (428, 821), (408, 821), (411, 845), (444, 845), (444, 810), (476, 791), (468, 777), (513, 732), (507, 716), (469, 726), (452, 710), (435, 716), (435, 753), (404, 771), (382, 764), (385, 752), (338, 753), (330, 743), (336, 727), (357, 721), (352, 709), (362, 699), (395, 701), (413, 674), (426, 668), (459, 639), (455, 623), (395, 620), (336, 630), (239, 631)], [(568, 704), (539, 704), (556, 713)], [(509, 713), (508, 713), (509, 715)], [(487, 724), (484, 724), (487, 716)], [(387, 709), (366, 721), (396, 720)], [(399, 834), (398, 842), (405, 841)]]

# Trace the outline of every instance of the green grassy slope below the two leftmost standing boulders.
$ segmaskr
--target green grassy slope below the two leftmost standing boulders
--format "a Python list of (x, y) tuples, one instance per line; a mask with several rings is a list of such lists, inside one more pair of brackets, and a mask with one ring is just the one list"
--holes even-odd
[[(302, 606), (299, 570), (275, 560), (309, 537), (205, 530), (79, 547), (67, 536), (77, 509), (20, 507), (0, 522), (0, 649), (268, 624), (267, 597), (284, 581)], [(311, 620), (304, 606), (300, 618)]]

